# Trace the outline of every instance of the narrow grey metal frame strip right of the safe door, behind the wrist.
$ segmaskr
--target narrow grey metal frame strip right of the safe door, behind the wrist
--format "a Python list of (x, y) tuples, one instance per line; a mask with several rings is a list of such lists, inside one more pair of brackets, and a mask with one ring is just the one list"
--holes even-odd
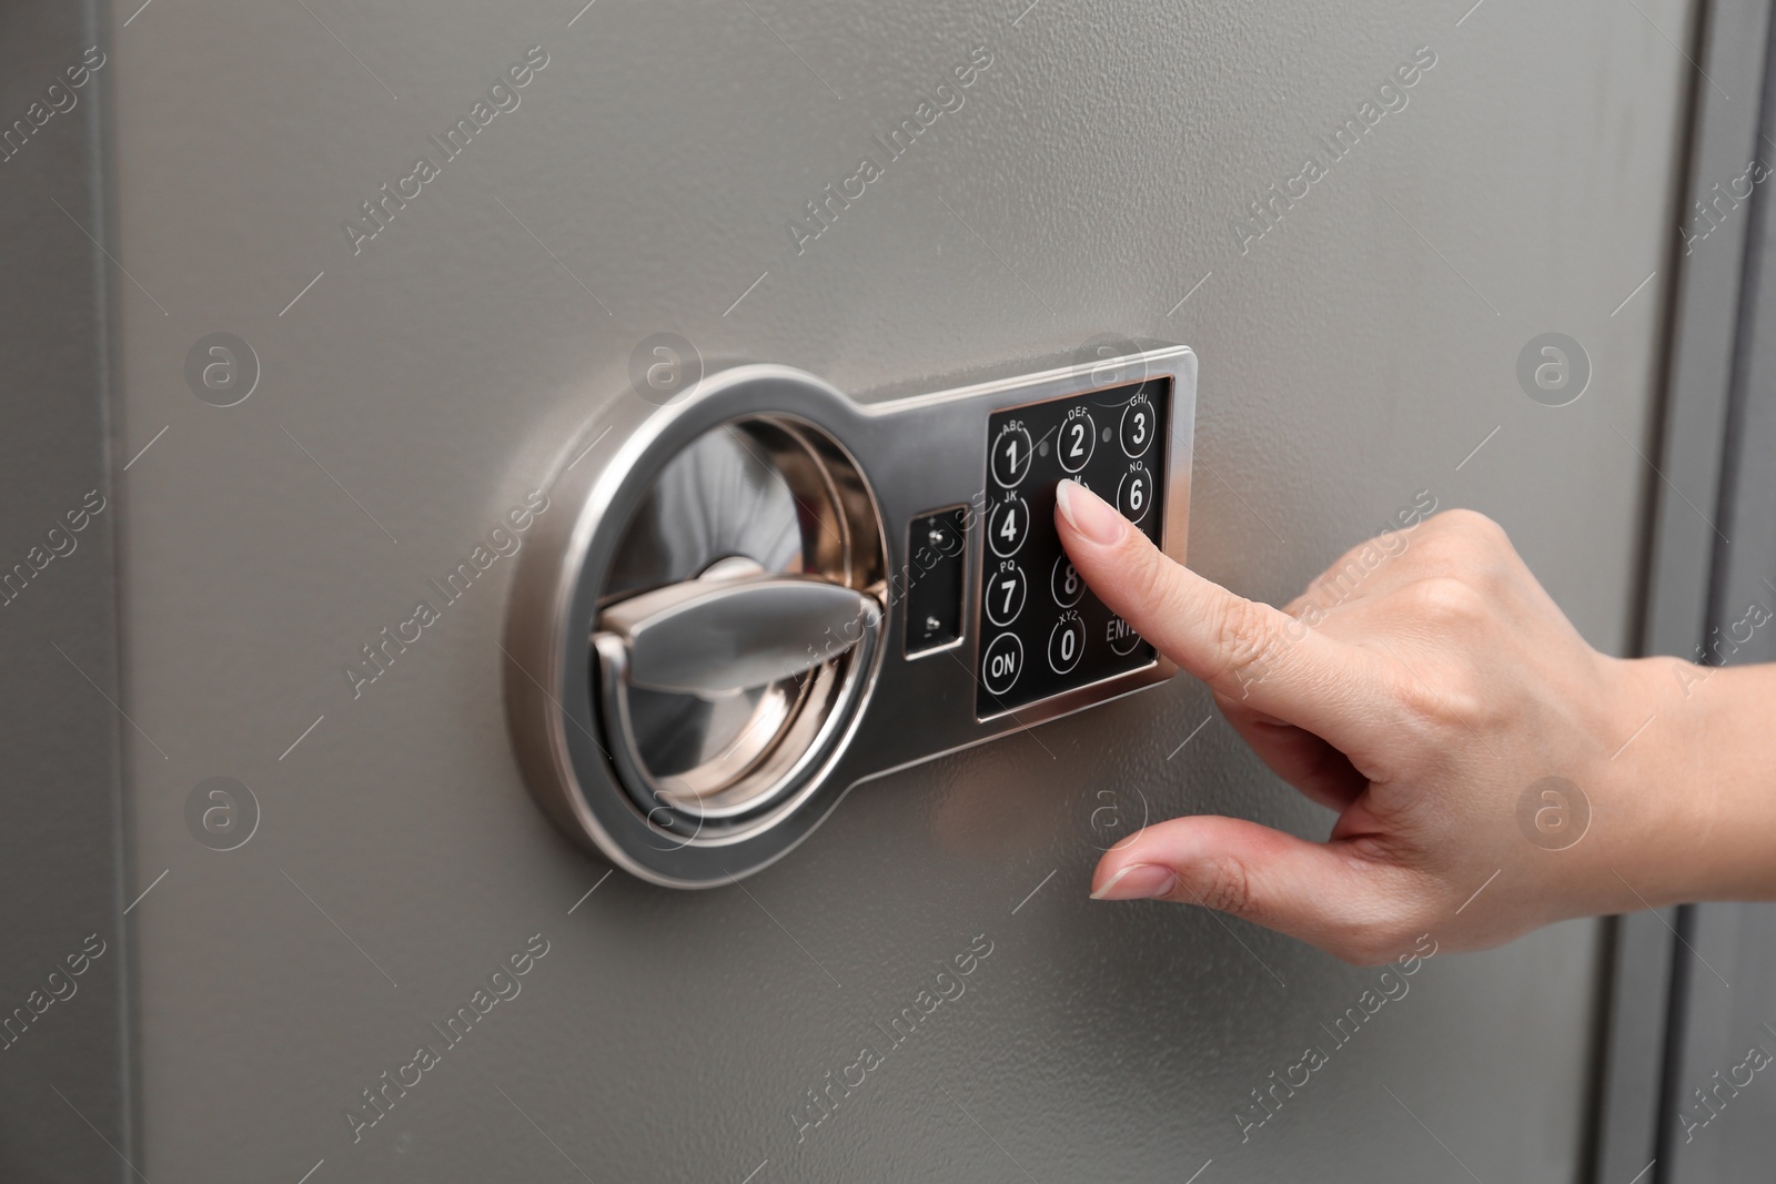
[[(1769, 5), (1762, 0), (1714, 2), (1698, 12), (1691, 78), (1693, 133), (1680, 186), (1678, 233), (1669, 243), (1664, 280), (1671, 291), (1671, 341), (1666, 405), (1657, 444), (1661, 481), (1648, 488), (1652, 538), (1641, 653), (1701, 659), (1710, 623), (1714, 554), (1723, 534), (1721, 481), (1728, 437), (1733, 353), (1751, 202), (1723, 190), (1751, 160), (1764, 158), (1760, 94), (1765, 80)], [(1737, 96), (1737, 98), (1735, 98)], [(1762, 201), (1760, 193), (1753, 193)], [(1707, 206), (1707, 213), (1701, 206)], [(1611, 982), (1604, 1008), (1595, 1180), (1629, 1180), (1664, 1159), (1673, 1172), (1673, 1115), (1668, 1083), (1673, 1063), (1673, 971), (1694, 969), (1677, 941), (1684, 909), (1639, 912), (1613, 921)], [(1691, 934), (1694, 939), (1694, 934)], [(1664, 1177), (1661, 1177), (1664, 1179)]]

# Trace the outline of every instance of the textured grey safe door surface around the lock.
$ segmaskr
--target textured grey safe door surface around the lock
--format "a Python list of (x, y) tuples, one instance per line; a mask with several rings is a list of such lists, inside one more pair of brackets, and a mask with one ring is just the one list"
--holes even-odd
[[(1167, 760), (1197, 685), (870, 785), (746, 891), (613, 875), (568, 914), (604, 868), (506, 747), (508, 572), (362, 698), (341, 666), (629, 398), (657, 330), (858, 392), (1185, 341), (1199, 570), (1288, 598), (1430, 488), (1621, 651), (1659, 286), (1613, 309), (1664, 263), (1687, 5), (309, 7), (163, 2), (108, 34), (117, 256), (167, 309), (121, 296), (130, 449), (170, 424), (123, 540), (126, 706), (169, 754), (130, 747), (133, 875), (170, 868), (133, 912), (151, 1179), (1355, 1180), (1451, 1152), (1572, 1179), (1591, 923), (1435, 959), (1240, 1145), (1247, 1090), (1375, 976), (1085, 900), (1099, 790), (1325, 833), (1220, 722)], [(535, 41), (522, 107), (353, 257), (341, 218)], [(979, 43), (966, 105), (796, 256), (785, 222)], [(1256, 192), (1421, 44), (1410, 105), (1241, 256)], [(215, 330), (265, 367), (234, 408), (185, 389)], [(1566, 408), (1515, 383), (1545, 330), (1595, 362)], [(185, 829), (210, 776), (263, 806), (240, 850)], [(536, 932), (524, 992), (353, 1145), (357, 1092)], [(975, 934), (968, 994), (797, 1145), (805, 1090)]]

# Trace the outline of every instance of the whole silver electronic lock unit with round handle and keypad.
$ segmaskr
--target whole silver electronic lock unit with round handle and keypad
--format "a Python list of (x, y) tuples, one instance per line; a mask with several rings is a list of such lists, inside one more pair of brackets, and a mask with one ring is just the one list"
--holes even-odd
[(504, 689), (533, 795), (616, 866), (709, 888), (860, 781), (1163, 682), (1071, 573), (1053, 488), (1183, 559), (1193, 408), (1183, 346), (874, 403), (783, 366), (618, 398), (519, 556)]

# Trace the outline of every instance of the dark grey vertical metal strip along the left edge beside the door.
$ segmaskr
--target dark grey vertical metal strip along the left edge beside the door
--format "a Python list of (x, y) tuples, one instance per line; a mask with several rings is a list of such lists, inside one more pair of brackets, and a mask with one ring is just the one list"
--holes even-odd
[[(130, 1138), (115, 527), (91, 4), (0, 9), (0, 1179)], [(101, 51), (103, 53), (103, 51)], [(91, 59), (99, 60), (99, 59)], [(67, 75), (73, 69), (75, 75)], [(71, 85), (80, 78), (82, 85)], [(23, 130), (12, 121), (23, 121)]]

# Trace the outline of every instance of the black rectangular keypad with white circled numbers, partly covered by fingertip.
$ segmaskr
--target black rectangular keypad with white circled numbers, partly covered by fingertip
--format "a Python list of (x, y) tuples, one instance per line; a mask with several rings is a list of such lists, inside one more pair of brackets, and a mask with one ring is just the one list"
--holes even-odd
[(1165, 527), (1172, 380), (1092, 391), (987, 417), (975, 715), (987, 719), (1154, 660), (1103, 605), (1055, 534), (1055, 485), (1071, 478), (1147, 538)]

